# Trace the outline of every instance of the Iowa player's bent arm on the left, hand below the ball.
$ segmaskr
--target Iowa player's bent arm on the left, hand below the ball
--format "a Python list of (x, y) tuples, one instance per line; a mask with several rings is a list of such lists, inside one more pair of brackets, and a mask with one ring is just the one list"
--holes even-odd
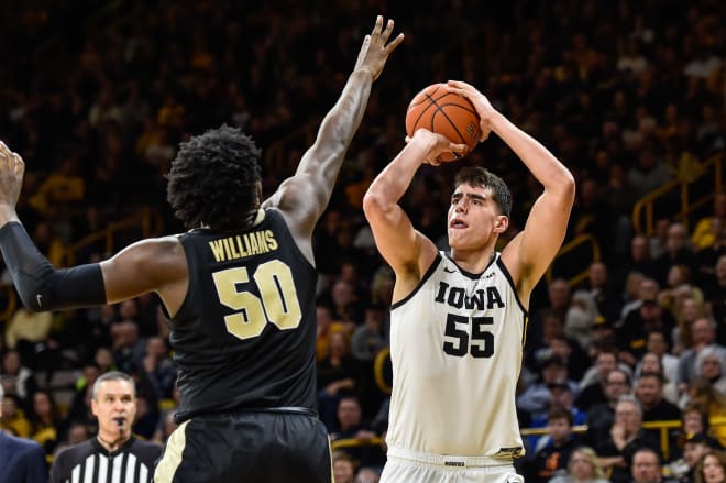
[(440, 154), (450, 152), (463, 154), (466, 145), (419, 129), (363, 197), (363, 210), (378, 252), (396, 273), (394, 299), (414, 289), (437, 254), (433, 242), (414, 228), (398, 201), (421, 164), (436, 164)]

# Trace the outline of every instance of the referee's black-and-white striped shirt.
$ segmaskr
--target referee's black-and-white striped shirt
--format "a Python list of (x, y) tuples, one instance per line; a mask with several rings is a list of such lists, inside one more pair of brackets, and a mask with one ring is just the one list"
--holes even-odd
[(151, 483), (162, 447), (132, 437), (109, 452), (96, 438), (61, 451), (51, 483)]

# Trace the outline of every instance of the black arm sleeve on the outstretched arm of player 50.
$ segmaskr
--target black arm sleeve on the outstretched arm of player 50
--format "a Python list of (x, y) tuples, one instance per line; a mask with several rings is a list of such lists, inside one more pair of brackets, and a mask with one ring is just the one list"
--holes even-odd
[(23, 305), (31, 310), (63, 310), (107, 303), (98, 263), (54, 267), (16, 221), (0, 228), (0, 250)]

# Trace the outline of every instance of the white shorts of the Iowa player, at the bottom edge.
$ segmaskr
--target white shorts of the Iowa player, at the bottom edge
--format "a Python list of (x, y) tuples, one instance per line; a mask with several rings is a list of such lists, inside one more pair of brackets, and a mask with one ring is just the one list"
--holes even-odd
[(388, 448), (381, 483), (524, 483), (512, 460)]

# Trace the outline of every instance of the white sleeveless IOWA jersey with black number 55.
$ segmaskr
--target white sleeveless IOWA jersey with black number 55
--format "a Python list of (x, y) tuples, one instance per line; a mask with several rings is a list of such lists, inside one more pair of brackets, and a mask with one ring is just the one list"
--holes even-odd
[(440, 253), (391, 308), (389, 447), (521, 455), (515, 409), (527, 311), (499, 253), (482, 274)]

